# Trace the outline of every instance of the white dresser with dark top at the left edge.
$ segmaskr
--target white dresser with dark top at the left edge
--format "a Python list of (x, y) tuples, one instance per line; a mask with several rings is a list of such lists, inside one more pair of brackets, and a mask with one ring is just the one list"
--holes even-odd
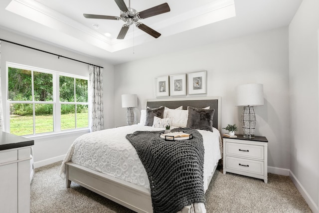
[(0, 132), (0, 212), (30, 212), (30, 150), (34, 141)]

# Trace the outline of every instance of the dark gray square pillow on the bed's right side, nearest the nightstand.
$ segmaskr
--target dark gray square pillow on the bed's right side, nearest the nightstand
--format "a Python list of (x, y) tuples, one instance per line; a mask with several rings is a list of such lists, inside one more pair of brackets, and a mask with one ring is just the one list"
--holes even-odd
[(213, 131), (213, 116), (215, 109), (198, 109), (188, 107), (187, 127)]

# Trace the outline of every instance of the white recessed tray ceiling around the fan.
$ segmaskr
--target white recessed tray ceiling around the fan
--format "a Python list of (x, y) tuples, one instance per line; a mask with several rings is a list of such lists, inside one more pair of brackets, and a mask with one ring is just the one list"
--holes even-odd
[(301, 1), (125, 0), (138, 11), (169, 4), (170, 12), (141, 20), (161, 33), (157, 39), (131, 26), (125, 39), (118, 40), (122, 20), (83, 16), (120, 16), (113, 0), (1, 0), (0, 26), (118, 64), (287, 26)]

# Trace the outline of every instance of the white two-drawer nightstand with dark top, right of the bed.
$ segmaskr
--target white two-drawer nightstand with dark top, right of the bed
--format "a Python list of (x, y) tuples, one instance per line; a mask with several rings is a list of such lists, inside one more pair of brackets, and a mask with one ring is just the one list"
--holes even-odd
[(223, 137), (223, 172), (236, 173), (268, 182), (266, 137), (255, 136), (248, 139), (242, 135), (237, 138)]

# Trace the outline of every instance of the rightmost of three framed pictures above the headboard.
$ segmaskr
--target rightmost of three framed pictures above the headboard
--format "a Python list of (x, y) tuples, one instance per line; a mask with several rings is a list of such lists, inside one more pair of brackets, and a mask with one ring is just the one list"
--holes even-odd
[(188, 94), (207, 94), (207, 71), (187, 73)]

